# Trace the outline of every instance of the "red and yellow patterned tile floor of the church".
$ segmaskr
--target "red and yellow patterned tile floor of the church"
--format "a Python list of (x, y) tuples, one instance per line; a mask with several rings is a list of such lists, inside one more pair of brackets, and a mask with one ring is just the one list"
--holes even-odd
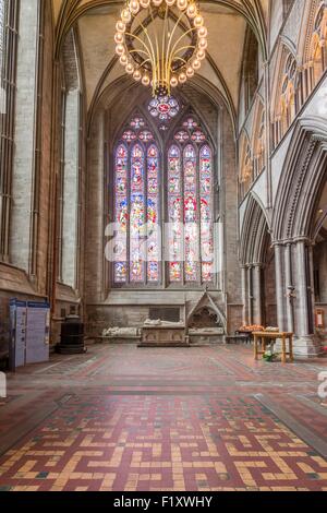
[(55, 356), (9, 377), (0, 491), (327, 491), (322, 371), (243, 346)]

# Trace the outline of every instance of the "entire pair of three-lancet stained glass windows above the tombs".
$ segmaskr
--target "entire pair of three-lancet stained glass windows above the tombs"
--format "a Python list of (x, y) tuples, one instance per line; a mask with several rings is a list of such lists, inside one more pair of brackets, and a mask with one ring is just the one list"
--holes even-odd
[(113, 283), (213, 284), (214, 159), (208, 138), (197, 119), (187, 116), (160, 148), (140, 115), (116, 145)]

